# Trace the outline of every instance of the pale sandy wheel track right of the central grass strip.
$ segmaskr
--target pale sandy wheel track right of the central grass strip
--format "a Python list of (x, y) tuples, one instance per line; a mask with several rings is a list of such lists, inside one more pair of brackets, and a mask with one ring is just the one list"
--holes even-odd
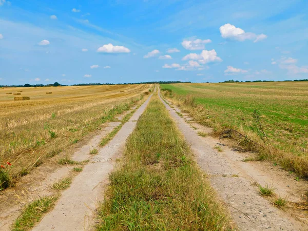
[[(234, 159), (239, 156), (238, 152), (228, 150), (227, 155), (218, 152), (213, 147), (219, 140), (215, 142), (214, 138), (211, 138), (211, 141), (201, 138), (197, 131), (176, 113), (180, 112), (179, 109), (172, 109), (164, 101), (163, 103), (191, 145), (199, 166), (209, 175), (211, 185), (226, 203), (240, 230), (308, 230), (304, 223), (260, 196), (253, 183), (255, 179), (271, 183), (271, 176), (267, 172), (256, 169), (248, 162), (237, 161), (242, 163), (236, 164), (236, 160), (228, 156), (233, 156)], [(283, 187), (280, 191), (285, 193)]]

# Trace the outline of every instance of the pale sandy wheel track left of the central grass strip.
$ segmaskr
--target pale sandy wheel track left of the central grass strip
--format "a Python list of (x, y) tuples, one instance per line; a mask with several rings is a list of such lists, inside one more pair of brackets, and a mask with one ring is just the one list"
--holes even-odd
[(65, 190), (55, 207), (33, 230), (92, 230), (94, 210), (104, 198), (108, 174), (115, 159), (122, 153), (126, 138), (136, 126), (136, 121), (145, 110), (150, 97), (132, 115), (115, 137), (103, 148)]

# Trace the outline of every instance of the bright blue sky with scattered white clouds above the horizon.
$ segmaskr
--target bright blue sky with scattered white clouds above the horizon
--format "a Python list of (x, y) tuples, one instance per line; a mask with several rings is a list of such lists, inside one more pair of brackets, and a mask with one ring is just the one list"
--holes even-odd
[(0, 85), (308, 79), (306, 0), (0, 0)]

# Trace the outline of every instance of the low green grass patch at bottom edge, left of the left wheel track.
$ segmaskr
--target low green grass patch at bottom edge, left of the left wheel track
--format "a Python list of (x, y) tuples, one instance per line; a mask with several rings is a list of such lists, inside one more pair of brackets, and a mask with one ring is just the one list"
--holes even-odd
[(43, 197), (28, 204), (12, 227), (12, 231), (25, 231), (32, 228), (47, 213), (56, 201), (56, 197)]

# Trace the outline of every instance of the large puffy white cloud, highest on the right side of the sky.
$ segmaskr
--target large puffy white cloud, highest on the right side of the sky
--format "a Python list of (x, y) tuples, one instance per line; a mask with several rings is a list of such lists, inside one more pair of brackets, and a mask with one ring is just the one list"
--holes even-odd
[(254, 43), (264, 40), (267, 36), (265, 34), (255, 34), (252, 32), (245, 32), (243, 29), (235, 27), (229, 23), (219, 28), (220, 34), (223, 38), (230, 38), (240, 42), (245, 40), (254, 40)]

